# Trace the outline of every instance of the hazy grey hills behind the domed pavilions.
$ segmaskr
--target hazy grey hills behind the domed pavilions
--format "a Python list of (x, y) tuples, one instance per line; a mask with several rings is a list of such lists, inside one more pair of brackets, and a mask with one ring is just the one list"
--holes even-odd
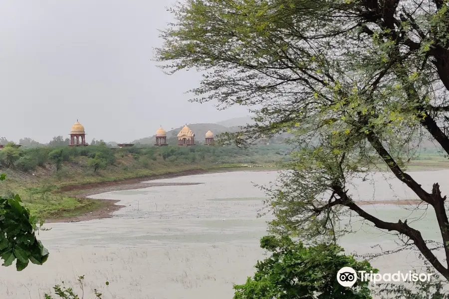
[[(232, 128), (227, 128), (223, 125), (219, 124), (191, 124), (187, 125), (193, 133), (195, 133), (195, 140), (198, 143), (204, 143), (204, 136), (206, 135), (206, 132), (211, 130), (214, 135), (218, 135), (220, 133), (225, 132), (235, 132)], [(178, 135), (179, 131), (181, 131), (183, 127), (179, 127), (170, 131), (167, 131), (167, 143), (168, 144), (177, 144), (176, 136)], [(167, 129), (166, 129), (167, 130)], [(156, 142), (155, 136), (146, 137), (142, 139), (138, 139), (133, 141), (134, 144), (140, 143), (142, 145), (148, 145), (148, 144), (154, 144)]]

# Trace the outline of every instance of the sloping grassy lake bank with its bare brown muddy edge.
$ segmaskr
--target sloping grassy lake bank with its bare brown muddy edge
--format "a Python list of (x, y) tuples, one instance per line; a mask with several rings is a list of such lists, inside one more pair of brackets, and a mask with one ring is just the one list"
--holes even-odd
[[(104, 218), (118, 209), (115, 202), (87, 197), (92, 194), (142, 188), (142, 181), (180, 175), (233, 169), (278, 170), (275, 165), (285, 157), (281, 146), (246, 150), (206, 146), (14, 150), (17, 156), (22, 155), (20, 159), (26, 157), (25, 160), (38, 164), (22, 165), (18, 163), (20, 159), (6, 168), (0, 164), (0, 172), (7, 174), (7, 179), (0, 183), (0, 196), (19, 194), (32, 214), (52, 222)], [(409, 164), (409, 170), (449, 166), (447, 160), (434, 156)]]

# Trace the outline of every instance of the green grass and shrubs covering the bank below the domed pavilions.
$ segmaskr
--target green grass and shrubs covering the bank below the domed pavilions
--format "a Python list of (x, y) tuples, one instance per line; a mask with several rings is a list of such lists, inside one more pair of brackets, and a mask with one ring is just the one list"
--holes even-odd
[(20, 194), (32, 214), (45, 219), (73, 217), (105, 206), (102, 201), (61, 192), (62, 186), (157, 176), (193, 169), (274, 168), (290, 148), (284, 145), (237, 147), (17, 147), (0, 150), (0, 169), (9, 179), (3, 194)]

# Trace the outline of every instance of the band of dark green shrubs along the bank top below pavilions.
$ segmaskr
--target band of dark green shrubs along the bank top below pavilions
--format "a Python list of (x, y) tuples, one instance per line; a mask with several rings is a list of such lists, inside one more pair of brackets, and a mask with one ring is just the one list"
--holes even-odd
[(196, 146), (195, 148), (181, 147), (131, 147), (123, 149), (111, 149), (105, 145), (88, 147), (36, 147), (36, 148), (11, 148), (0, 150), (0, 164), (5, 168), (16, 167), (22, 171), (34, 170), (37, 166), (53, 164), (59, 171), (64, 162), (76, 160), (77, 157), (88, 158), (88, 167), (97, 171), (105, 169), (107, 165), (114, 165), (117, 157), (131, 155), (136, 161), (145, 161), (145, 167), (149, 161), (156, 161), (158, 156), (163, 159), (177, 160), (182, 164), (213, 161), (219, 163), (248, 163), (253, 160), (258, 162), (275, 162), (283, 158), (290, 148), (286, 145), (253, 146), (249, 149), (239, 149), (234, 146), (215, 148)]

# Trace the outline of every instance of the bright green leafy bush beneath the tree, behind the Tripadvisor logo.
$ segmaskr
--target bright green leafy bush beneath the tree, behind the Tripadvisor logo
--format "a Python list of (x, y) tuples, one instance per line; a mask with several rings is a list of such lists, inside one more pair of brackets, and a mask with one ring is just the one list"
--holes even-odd
[(260, 247), (271, 255), (258, 261), (253, 278), (244, 285), (234, 286), (234, 299), (371, 299), (369, 282), (358, 280), (353, 288), (337, 282), (337, 272), (343, 267), (355, 271), (373, 271), (366, 261), (341, 254), (336, 245), (319, 244), (305, 247), (289, 237), (266, 236)]

